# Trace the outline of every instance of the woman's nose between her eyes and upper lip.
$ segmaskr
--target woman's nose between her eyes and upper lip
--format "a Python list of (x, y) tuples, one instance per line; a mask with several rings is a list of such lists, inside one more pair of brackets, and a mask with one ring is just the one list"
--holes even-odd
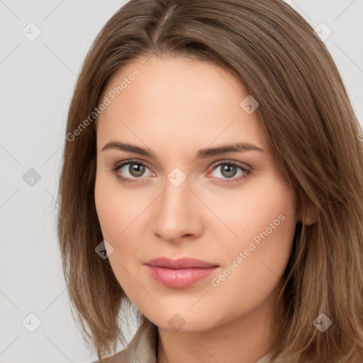
[(203, 203), (191, 190), (189, 179), (175, 186), (168, 179), (155, 201), (154, 233), (163, 240), (193, 240), (203, 232)]

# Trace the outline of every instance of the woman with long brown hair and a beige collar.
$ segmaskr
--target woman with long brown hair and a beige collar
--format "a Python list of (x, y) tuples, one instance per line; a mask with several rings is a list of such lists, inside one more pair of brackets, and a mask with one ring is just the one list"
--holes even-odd
[[(125, 4), (82, 67), (59, 190), (100, 362), (362, 362), (361, 135), (284, 2)], [(123, 306), (140, 327), (117, 353)]]

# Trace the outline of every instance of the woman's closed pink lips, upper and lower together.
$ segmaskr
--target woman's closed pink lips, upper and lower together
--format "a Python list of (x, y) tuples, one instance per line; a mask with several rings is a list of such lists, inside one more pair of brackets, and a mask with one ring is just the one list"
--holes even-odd
[(184, 289), (216, 272), (220, 266), (211, 262), (183, 257), (157, 257), (145, 263), (150, 275), (160, 284), (172, 289)]

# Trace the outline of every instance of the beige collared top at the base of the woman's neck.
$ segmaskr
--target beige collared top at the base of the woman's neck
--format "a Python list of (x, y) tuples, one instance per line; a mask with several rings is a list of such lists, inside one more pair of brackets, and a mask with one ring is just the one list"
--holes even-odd
[[(113, 355), (111, 363), (157, 363), (156, 357), (157, 328), (147, 321), (140, 325), (133, 339), (125, 350)], [(267, 363), (270, 353), (256, 363)]]

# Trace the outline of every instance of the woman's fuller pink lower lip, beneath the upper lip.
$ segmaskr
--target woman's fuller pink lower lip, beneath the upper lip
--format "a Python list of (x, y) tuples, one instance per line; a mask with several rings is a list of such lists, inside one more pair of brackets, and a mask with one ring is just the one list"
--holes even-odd
[(167, 269), (166, 267), (146, 266), (156, 281), (172, 289), (184, 289), (192, 286), (218, 269), (218, 267), (209, 267), (207, 269)]

